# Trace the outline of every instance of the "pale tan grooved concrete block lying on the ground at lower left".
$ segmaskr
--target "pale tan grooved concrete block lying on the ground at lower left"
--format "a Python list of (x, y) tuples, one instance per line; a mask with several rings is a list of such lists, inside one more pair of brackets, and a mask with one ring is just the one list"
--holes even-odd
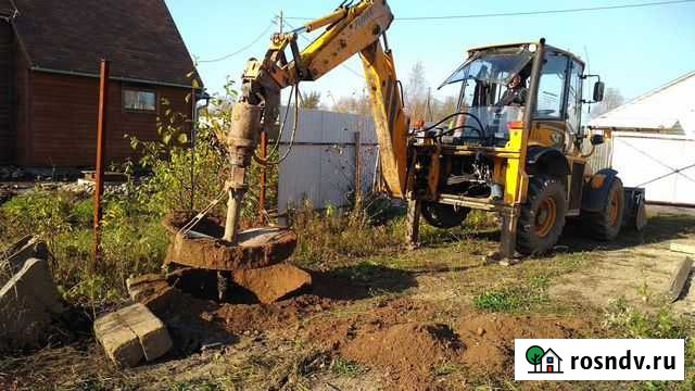
[(115, 364), (136, 366), (142, 357), (152, 361), (172, 349), (166, 326), (142, 304), (132, 304), (94, 321), (94, 336)]

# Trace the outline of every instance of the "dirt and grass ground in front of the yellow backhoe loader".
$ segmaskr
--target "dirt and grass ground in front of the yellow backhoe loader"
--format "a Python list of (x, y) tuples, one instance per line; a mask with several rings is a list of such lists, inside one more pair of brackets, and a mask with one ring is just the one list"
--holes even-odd
[[(515, 338), (602, 338), (611, 302), (656, 311), (695, 240), (695, 216), (650, 209), (643, 234), (611, 244), (572, 229), (555, 254), (485, 263), (495, 232), (438, 236), (421, 249), (314, 270), (314, 288), (275, 303), (181, 299), (167, 324), (177, 349), (159, 363), (112, 368), (92, 340), (0, 361), (7, 389), (468, 390), (547, 389), (514, 382)], [(451, 240), (450, 240), (451, 239)], [(686, 292), (674, 307), (695, 311)], [(677, 383), (661, 384), (678, 388)], [(659, 386), (659, 387), (661, 387)], [(0, 389), (3, 389), (0, 387)], [(552, 389), (643, 384), (553, 383)], [(644, 386), (645, 389), (649, 384)]]

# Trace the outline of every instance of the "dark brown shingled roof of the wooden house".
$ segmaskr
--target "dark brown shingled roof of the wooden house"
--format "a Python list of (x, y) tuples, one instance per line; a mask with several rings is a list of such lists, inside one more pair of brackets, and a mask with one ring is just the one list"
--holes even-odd
[(191, 56), (164, 0), (0, 0), (33, 70), (190, 86)]

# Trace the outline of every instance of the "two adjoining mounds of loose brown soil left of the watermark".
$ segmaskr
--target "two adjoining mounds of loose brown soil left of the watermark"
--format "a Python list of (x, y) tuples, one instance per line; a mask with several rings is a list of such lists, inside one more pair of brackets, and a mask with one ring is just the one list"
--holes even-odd
[(452, 325), (432, 321), (425, 303), (401, 299), (348, 318), (309, 325), (313, 343), (380, 369), (388, 390), (439, 390), (442, 368), (511, 375), (516, 338), (571, 338), (587, 325), (574, 318), (470, 313)]

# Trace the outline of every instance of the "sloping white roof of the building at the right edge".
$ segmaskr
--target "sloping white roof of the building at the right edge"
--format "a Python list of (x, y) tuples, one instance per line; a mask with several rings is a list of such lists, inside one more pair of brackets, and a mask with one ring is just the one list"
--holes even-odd
[(590, 122), (597, 128), (669, 130), (695, 136), (695, 72)]

